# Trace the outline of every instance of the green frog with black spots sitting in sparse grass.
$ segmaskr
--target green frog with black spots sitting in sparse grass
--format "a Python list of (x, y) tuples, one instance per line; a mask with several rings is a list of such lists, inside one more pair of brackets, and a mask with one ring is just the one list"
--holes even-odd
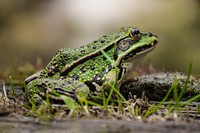
[(25, 79), (28, 100), (41, 104), (48, 96), (50, 103), (61, 104), (62, 96), (76, 102), (80, 95), (85, 99), (102, 96), (111, 85), (120, 88), (157, 43), (151, 32), (122, 27), (79, 48), (61, 48), (44, 69)]

